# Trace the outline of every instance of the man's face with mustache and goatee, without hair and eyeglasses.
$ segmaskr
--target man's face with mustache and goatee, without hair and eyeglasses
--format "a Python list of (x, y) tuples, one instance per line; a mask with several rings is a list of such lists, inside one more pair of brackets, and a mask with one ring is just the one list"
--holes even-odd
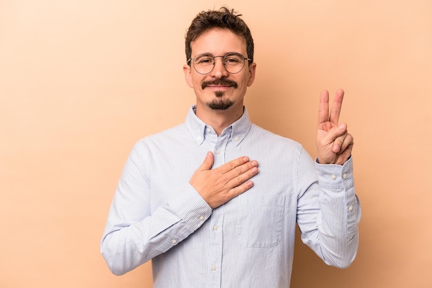
[[(230, 30), (213, 29), (202, 34), (190, 43), (192, 58), (199, 54), (211, 56), (225, 56), (236, 52), (247, 57), (246, 41)], [(193, 88), (197, 96), (197, 109), (204, 107), (212, 110), (227, 110), (230, 107), (243, 109), (243, 99), (246, 88), (251, 86), (255, 79), (255, 63), (246, 63), (237, 74), (230, 74), (225, 70), (223, 58), (215, 58), (215, 67), (208, 74), (199, 74), (193, 63), (184, 65), (186, 82)]]

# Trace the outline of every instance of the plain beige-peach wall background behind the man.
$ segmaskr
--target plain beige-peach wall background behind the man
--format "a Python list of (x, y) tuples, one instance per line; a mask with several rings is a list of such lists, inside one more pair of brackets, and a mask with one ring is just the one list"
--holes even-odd
[(297, 238), (292, 287), (432, 287), (431, 1), (0, 0), (0, 287), (151, 287), (99, 240), (142, 136), (184, 121), (184, 34), (227, 3), (255, 39), (252, 120), (315, 156), (322, 89), (346, 90), (360, 248), (326, 267)]

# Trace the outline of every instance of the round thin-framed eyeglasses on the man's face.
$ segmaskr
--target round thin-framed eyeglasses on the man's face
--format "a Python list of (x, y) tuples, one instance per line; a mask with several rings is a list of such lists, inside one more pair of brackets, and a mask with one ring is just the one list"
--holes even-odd
[(195, 68), (199, 74), (208, 74), (215, 68), (215, 58), (217, 57), (222, 58), (224, 68), (230, 74), (236, 74), (242, 71), (245, 61), (251, 61), (251, 59), (245, 58), (242, 54), (228, 53), (225, 56), (198, 54), (195, 58), (190, 58), (187, 63), (193, 62), (193, 68)]

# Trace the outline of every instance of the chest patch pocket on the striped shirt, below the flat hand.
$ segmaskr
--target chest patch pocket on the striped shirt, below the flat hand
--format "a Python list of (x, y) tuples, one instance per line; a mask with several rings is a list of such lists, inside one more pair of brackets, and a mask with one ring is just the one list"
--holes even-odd
[(243, 247), (274, 247), (279, 244), (284, 213), (280, 194), (261, 196), (256, 204), (239, 205), (237, 239)]

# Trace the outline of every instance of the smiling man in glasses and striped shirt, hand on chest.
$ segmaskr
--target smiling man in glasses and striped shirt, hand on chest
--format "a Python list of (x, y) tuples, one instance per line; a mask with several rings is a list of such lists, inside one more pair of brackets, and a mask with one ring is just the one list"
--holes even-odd
[[(252, 124), (243, 105), (255, 79), (241, 15), (197, 15), (186, 34), (186, 122), (136, 143), (119, 181), (101, 253), (120, 275), (152, 260), (154, 287), (289, 287), (295, 224), (328, 265), (358, 245), (353, 137), (321, 95), (314, 161), (295, 141)], [(259, 166), (258, 166), (259, 163)]]

